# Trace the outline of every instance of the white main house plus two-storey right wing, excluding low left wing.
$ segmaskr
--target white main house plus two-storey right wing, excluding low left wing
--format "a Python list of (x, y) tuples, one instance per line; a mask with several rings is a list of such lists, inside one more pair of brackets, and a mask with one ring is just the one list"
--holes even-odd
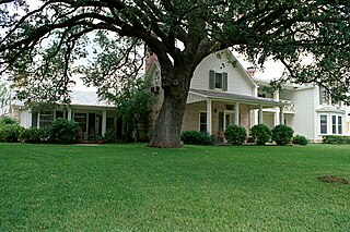
[[(160, 95), (154, 121), (162, 102), (161, 69), (154, 56), (148, 65), (148, 75), (153, 80), (151, 89)], [(197, 66), (191, 80), (183, 130), (223, 137), (230, 124), (247, 131), (258, 123), (270, 129), (288, 124), (294, 134), (315, 143), (322, 142), (324, 135), (349, 134), (346, 108), (332, 103), (318, 86), (285, 85), (278, 93), (268, 93), (264, 91), (268, 83), (253, 78), (229, 50), (210, 54)]]

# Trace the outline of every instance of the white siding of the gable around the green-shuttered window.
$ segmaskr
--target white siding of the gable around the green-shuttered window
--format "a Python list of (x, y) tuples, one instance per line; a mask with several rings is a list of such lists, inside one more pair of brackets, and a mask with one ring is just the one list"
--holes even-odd
[(248, 80), (245, 71), (236, 65), (235, 68), (229, 62), (226, 54), (223, 52), (221, 59), (217, 54), (210, 54), (205, 58), (197, 66), (190, 87), (196, 89), (209, 89), (209, 71), (228, 73), (228, 93), (249, 95), (254, 94), (255, 86)]

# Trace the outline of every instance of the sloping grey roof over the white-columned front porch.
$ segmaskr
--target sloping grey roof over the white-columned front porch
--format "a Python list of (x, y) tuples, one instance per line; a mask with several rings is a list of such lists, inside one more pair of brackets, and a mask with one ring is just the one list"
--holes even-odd
[(230, 94), (224, 91), (213, 91), (213, 90), (202, 90), (202, 89), (191, 88), (189, 89), (189, 94), (195, 95), (197, 97), (197, 100), (194, 100), (191, 102), (211, 99), (211, 100), (233, 101), (233, 102), (255, 105), (255, 106), (262, 105), (267, 107), (283, 107), (285, 105), (281, 101), (276, 101), (276, 100), (270, 100), (270, 99), (265, 99), (265, 98), (254, 97), (248, 95)]

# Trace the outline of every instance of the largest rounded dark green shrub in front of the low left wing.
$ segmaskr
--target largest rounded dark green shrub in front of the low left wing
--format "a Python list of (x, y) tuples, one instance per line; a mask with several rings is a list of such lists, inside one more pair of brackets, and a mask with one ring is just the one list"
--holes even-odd
[(78, 123), (72, 120), (58, 118), (47, 127), (49, 142), (73, 144), (77, 139)]

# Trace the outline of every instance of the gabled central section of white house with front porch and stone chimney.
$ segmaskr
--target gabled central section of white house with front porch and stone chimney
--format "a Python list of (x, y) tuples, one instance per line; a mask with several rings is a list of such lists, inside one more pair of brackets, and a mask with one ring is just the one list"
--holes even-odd
[[(154, 58), (154, 57), (153, 57)], [(151, 89), (160, 95), (153, 111), (153, 122), (162, 102), (161, 70), (156, 59), (148, 70), (153, 81)], [(258, 85), (229, 50), (205, 58), (197, 66), (190, 84), (183, 131), (206, 131), (223, 138), (224, 130), (238, 124), (249, 130), (264, 122), (264, 110), (279, 108), (283, 122), (283, 102), (258, 97)]]

